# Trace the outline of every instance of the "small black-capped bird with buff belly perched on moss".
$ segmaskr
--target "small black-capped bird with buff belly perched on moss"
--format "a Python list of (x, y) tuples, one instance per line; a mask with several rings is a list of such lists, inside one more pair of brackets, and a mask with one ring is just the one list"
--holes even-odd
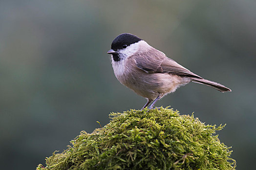
[(148, 107), (152, 109), (160, 98), (190, 82), (208, 85), (221, 92), (231, 91), (192, 73), (133, 34), (118, 35), (107, 53), (111, 54), (119, 82), (148, 100), (142, 109), (153, 101)]

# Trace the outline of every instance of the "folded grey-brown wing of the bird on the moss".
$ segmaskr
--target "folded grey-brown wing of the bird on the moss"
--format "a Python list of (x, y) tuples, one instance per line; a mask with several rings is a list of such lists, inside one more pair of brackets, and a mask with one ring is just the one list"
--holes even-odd
[[(161, 52), (161, 51), (159, 51)], [(136, 66), (148, 73), (170, 73), (182, 76), (192, 76), (202, 78), (192, 73), (187, 68), (179, 65), (174, 60), (165, 56), (164, 53), (154, 53), (154, 56), (144, 57), (144, 55), (138, 55), (134, 57)]]

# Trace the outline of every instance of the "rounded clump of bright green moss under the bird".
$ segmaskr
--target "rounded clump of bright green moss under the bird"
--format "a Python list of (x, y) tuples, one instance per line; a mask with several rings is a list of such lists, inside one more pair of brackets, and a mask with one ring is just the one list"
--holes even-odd
[(37, 170), (232, 170), (230, 148), (193, 115), (168, 108), (111, 113), (104, 128), (81, 132)]

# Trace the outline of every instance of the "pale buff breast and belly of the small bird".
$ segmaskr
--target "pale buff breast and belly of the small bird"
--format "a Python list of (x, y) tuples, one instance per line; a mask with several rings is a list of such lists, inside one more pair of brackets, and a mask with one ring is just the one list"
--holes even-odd
[(168, 73), (147, 73), (135, 67), (126, 69), (125, 62), (122, 62), (113, 63), (116, 78), (121, 84), (149, 100), (174, 92), (180, 85), (190, 82), (187, 78)]

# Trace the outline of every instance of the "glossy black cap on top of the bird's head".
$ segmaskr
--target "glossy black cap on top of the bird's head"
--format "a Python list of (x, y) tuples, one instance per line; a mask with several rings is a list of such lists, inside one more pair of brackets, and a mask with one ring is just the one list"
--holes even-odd
[(111, 44), (111, 49), (113, 50), (123, 49), (122, 47), (123, 45), (129, 46), (130, 44), (134, 44), (136, 42), (139, 42), (140, 40), (142, 39), (133, 34), (128, 34), (128, 33), (120, 34), (113, 40)]

